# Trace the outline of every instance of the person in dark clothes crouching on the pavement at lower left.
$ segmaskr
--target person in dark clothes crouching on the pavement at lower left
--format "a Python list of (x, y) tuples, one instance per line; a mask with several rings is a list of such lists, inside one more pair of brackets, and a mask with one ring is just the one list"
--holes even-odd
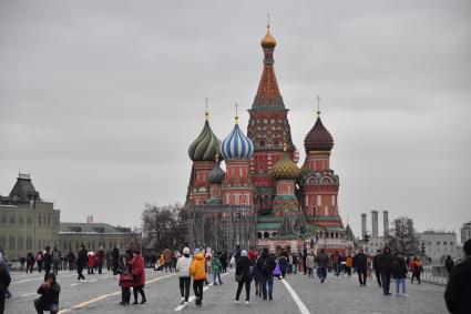
[(59, 294), (61, 293), (61, 286), (55, 280), (53, 273), (47, 273), (44, 275), (44, 282), (38, 288), (38, 294), (41, 296), (34, 300), (34, 308), (38, 314), (49, 311), (51, 314), (59, 312)]

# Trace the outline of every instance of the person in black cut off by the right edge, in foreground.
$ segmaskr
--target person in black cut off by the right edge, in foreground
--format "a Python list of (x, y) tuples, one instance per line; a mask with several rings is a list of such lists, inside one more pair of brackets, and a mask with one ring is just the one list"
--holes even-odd
[(451, 271), (444, 292), (447, 308), (453, 314), (471, 313), (471, 239), (464, 242), (464, 262)]

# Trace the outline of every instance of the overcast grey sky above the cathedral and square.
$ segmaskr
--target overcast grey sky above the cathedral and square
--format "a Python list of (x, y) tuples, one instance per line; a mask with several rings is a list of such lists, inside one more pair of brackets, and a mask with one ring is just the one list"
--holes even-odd
[(319, 94), (344, 220), (358, 234), (360, 213), (371, 229), (370, 211), (389, 210), (459, 233), (471, 2), (253, 2), (1, 1), (0, 194), (27, 172), (61, 221), (129, 226), (146, 202), (184, 202), (204, 99), (223, 140), (233, 103), (255, 97), (270, 12), (294, 143), (304, 151)]

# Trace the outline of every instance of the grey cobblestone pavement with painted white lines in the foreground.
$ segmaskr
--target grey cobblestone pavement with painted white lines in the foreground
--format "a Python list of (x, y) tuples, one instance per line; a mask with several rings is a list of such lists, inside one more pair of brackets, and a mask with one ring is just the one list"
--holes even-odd
[[(357, 277), (334, 278), (320, 284), (318, 278), (290, 275), (286, 282), (275, 280), (274, 301), (255, 296), (253, 288), (250, 304), (234, 304), (236, 283), (234, 273), (224, 274), (224, 285), (208, 285), (204, 291), (203, 306), (191, 302), (178, 306), (180, 291), (177, 274), (147, 272), (146, 306), (122, 306), (117, 280), (111, 273), (86, 275), (89, 282), (76, 283), (76, 274), (61, 272), (59, 283), (61, 313), (448, 313), (443, 302), (444, 287), (431, 284), (411, 285), (408, 282), (408, 297), (383, 296), (381, 290), (368, 280), (360, 287)], [(209, 278), (209, 276), (208, 276)], [(32, 302), (42, 275), (12, 273), (13, 298), (7, 300), (6, 313), (34, 313)], [(391, 284), (391, 292), (395, 292)], [(192, 293), (193, 294), (193, 293)], [(244, 301), (245, 291), (240, 300)]]

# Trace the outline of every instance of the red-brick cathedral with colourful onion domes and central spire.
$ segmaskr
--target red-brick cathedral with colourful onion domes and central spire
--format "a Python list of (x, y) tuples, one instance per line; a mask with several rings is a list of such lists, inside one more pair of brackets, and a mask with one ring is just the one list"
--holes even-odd
[(345, 253), (351, 250), (354, 235), (338, 214), (339, 178), (330, 169), (334, 139), (318, 109), (304, 140), (306, 160), (297, 166), (299, 154), (291, 139), (288, 109), (275, 77), (275, 47), (268, 26), (262, 39), (264, 68), (248, 110), (247, 135), (236, 114), (234, 129), (219, 141), (206, 111), (203, 131), (188, 148), (193, 168), (187, 200), (196, 206), (253, 206), (258, 249)]

